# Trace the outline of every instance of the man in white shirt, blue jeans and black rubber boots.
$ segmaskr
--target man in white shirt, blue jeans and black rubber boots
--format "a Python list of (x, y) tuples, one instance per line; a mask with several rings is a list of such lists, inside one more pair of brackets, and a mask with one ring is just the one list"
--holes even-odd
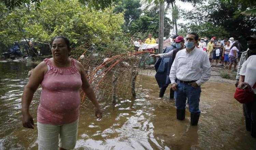
[(205, 51), (195, 45), (198, 41), (196, 32), (186, 36), (185, 49), (177, 52), (170, 71), (170, 80), (175, 97), (176, 117), (185, 119), (186, 100), (190, 111), (190, 124), (197, 125), (200, 109), (201, 85), (211, 77), (211, 64)]

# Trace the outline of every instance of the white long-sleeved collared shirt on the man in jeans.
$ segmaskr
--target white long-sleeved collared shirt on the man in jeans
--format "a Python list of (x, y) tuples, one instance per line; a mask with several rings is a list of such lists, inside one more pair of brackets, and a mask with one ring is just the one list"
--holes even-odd
[(177, 52), (170, 71), (171, 84), (175, 79), (196, 81), (200, 86), (211, 77), (211, 64), (205, 51), (194, 48), (190, 53), (186, 48)]

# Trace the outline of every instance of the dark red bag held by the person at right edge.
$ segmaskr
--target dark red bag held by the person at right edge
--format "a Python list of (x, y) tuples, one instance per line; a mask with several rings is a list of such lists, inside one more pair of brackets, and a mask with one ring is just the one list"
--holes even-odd
[[(247, 84), (247, 83), (246, 83)], [(256, 87), (256, 83), (253, 85), (253, 88), (249, 88), (249, 86), (245, 89), (236, 88), (236, 92), (234, 94), (234, 98), (242, 104), (250, 103), (253, 101), (253, 89)]]

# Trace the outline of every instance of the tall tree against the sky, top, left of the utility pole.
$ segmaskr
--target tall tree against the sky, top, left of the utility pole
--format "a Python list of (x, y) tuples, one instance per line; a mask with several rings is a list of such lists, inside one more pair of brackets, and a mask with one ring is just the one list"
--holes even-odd
[(124, 30), (129, 31), (131, 23), (138, 19), (142, 13), (140, 0), (120, 0), (113, 4), (114, 13), (124, 13)]

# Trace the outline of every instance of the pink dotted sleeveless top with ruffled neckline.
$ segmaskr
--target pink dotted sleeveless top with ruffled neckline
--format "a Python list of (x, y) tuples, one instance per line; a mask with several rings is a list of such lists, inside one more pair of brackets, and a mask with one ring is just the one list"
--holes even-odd
[(49, 59), (44, 59), (48, 72), (42, 80), (42, 92), (37, 120), (40, 123), (62, 125), (74, 122), (79, 117), (81, 74), (76, 60), (72, 66), (57, 68)]

